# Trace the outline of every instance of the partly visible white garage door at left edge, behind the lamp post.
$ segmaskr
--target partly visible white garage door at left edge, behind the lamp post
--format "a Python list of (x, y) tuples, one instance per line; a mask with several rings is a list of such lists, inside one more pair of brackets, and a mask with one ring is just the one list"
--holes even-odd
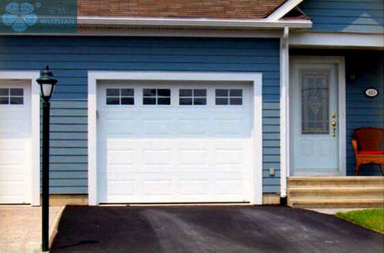
[(28, 83), (0, 82), (0, 203), (29, 202), (31, 90)]

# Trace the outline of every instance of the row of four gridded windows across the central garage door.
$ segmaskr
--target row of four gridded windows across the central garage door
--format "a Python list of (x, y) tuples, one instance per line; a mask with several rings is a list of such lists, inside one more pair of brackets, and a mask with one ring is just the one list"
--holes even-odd
[[(179, 89), (179, 105), (206, 105), (206, 89)], [(134, 105), (134, 89), (106, 89), (107, 105)], [(242, 105), (242, 89), (215, 89), (215, 105)], [(144, 88), (143, 105), (171, 105), (171, 89)]]

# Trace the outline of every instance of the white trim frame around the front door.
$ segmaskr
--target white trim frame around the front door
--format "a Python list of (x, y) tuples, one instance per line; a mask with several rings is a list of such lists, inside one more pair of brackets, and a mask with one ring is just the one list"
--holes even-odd
[[(346, 70), (344, 56), (291, 56), (289, 61), (289, 76), (293, 77), (294, 64), (337, 64), (337, 82), (338, 87), (338, 106), (339, 106), (339, 168), (340, 176), (346, 176)], [(291, 78), (289, 81), (291, 85)], [(290, 103), (287, 103), (290, 105)], [(288, 108), (289, 110), (289, 108)], [(286, 119), (289, 124), (290, 119)], [(291, 131), (287, 132), (287, 139), (293, 135)], [(286, 144), (287, 145), (287, 144)], [(289, 148), (289, 157), (291, 157), (291, 148)], [(291, 172), (291, 164), (287, 165), (287, 174)]]

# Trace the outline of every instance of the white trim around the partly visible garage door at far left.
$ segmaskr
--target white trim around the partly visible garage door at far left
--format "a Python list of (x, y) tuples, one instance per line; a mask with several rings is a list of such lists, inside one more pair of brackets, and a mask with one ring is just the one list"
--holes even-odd
[(32, 170), (28, 172), (30, 178), (29, 203), (33, 206), (40, 205), (40, 94), (36, 79), (38, 71), (0, 71), (0, 79), (5, 80), (24, 80), (31, 85), (31, 160)]

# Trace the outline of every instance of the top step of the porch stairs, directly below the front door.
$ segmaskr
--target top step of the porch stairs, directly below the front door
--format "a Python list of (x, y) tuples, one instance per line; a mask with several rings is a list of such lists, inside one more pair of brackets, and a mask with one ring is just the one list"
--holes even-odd
[(383, 187), (384, 176), (293, 176), (287, 187)]

